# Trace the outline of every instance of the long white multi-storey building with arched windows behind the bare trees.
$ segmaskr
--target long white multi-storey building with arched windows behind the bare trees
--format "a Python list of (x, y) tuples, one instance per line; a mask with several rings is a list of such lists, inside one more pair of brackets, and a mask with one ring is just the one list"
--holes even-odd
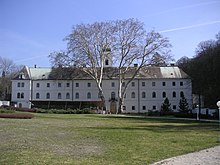
[[(104, 68), (102, 88), (106, 109), (116, 112), (118, 78), (116, 68)], [(132, 67), (135, 69), (136, 66)], [(127, 75), (127, 81), (129, 75)], [(101, 99), (95, 81), (79, 68), (24, 67), (12, 80), (12, 102), (18, 107), (81, 108), (98, 107)], [(177, 66), (147, 66), (130, 83), (124, 99), (123, 113), (160, 111), (167, 97), (173, 111), (178, 111), (181, 95), (192, 106), (189, 76)]]

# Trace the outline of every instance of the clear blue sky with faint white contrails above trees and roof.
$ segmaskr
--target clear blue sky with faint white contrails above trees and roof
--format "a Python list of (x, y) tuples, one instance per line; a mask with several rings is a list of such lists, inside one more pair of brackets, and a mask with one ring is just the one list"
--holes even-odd
[(0, 0), (0, 56), (50, 67), (73, 25), (128, 18), (168, 37), (178, 60), (220, 32), (220, 0)]

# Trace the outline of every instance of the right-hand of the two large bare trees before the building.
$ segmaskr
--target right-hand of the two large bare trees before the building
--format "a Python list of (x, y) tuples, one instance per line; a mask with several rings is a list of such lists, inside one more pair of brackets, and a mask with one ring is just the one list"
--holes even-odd
[[(155, 31), (146, 32), (144, 24), (138, 20), (116, 21), (116, 44), (113, 54), (119, 65), (118, 111), (123, 111), (126, 90), (141, 68), (150, 64), (156, 53), (161, 57), (170, 57), (169, 41)], [(132, 67), (134, 63), (136, 67)], [(131, 71), (132, 70), (132, 71)], [(129, 77), (127, 77), (129, 73)], [(124, 87), (122, 84), (124, 83)]]

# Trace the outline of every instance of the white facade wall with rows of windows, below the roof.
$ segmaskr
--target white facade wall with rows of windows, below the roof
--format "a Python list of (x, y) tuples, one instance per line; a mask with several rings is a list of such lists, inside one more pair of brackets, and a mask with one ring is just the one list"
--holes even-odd
[[(102, 87), (107, 110), (110, 110), (111, 102), (109, 100), (112, 93), (114, 92), (116, 99), (118, 98), (118, 80), (103, 80)], [(145, 113), (148, 110), (160, 110), (166, 97), (171, 103), (171, 108), (178, 111), (181, 92), (184, 93), (191, 106), (191, 88), (190, 79), (135, 79), (126, 92), (124, 113)], [(155, 97), (153, 96), (154, 92)], [(174, 92), (175, 94), (173, 94)], [(18, 93), (23, 93), (24, 97), (18, 98)], [(30, 108), (30, 101), (100, 101), (100, 98), (94, 80), (41, 79), (12, 80), (12, 101), (17, 102), (18, 106), (20, 104), (22, 107)], [(118, 102), (116, 103), (118, 104)]]

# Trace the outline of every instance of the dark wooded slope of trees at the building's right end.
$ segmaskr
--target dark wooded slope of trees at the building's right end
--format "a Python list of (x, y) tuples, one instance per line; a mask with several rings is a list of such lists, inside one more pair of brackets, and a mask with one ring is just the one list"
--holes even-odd
[(204, 97), (205, 107), (220, 100), (220, 32), (216, 40), (201, 42), (193, 58), (182, 57), (178, 66), (192, 78), (193, 94)]

